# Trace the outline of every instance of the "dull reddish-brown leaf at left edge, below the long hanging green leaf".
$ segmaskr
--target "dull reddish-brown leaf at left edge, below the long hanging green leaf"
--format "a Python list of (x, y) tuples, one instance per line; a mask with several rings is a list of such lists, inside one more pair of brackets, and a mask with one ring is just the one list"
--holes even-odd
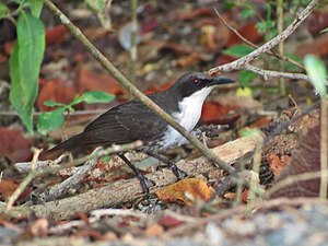
[(0, 127), (0, 154), (12, 162), (30, 161), (32, 157), (32, 138), (25, 138), (19, 128)]

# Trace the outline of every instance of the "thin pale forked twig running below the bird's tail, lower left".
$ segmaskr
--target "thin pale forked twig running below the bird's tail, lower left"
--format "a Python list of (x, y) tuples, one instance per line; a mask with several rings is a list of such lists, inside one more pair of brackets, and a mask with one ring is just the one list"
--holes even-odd
[(142, 144), (141, 141), (137, 141), (137, 142), (129, 143), (129, 144), (124, 144), (124, 145), (113, 145), (113, 147), (110, 147), (106, 150), (97, 149), (90, 156), (82, 157), (82, 159), (77, 159), (77, 160), (74, 160), (74, 162), (68, 162), (68, 163), (65, 163), (61, 166), (48, 167), (48, 168), (44, 168), (44, 169), (33, 168), (33, 166), (36, 166), (36, 160), (37, 160), (38, 154), (39, 154), (39, 152), (36, 152), (36, 154), (33, 157), (32, 169), (28, 173), (28, 175), (23, 179), (23, 181), (20, 184), (17, 189), (13, 192), (13, 195), (9, 198), (9, 201), (8, 201), (8, 204), (7, 204), (7, 211), (12, 209), (12, 204), (14, 203), (14, 201), (17, 199), (17, 197), (21, 195), (21, 192), (27, 187), (27, 185), (35, 177), (39, 177), (39, 176), (47, 175), (47, 174), (52, 174), (52, 173), (56, 173), (56, 172), (58, 172), (60, 169), (63, 169), (63, 168), (67, 168), (67, 167), (80, 165), (80, 164), (84, 163), (85, 161), (87, 161), (89, 159), (92, 159), (92, 157), (99, 157), (99, 156), (107, 155), (107, 154), (113, 154), (113, 153), (117, 153), (117, 152), (122, 152), (122, 151), (128, 151), (128, 150), (131, 150), (131, 149), (136, 149), (137, 147), (140, 147), (141, 144)]

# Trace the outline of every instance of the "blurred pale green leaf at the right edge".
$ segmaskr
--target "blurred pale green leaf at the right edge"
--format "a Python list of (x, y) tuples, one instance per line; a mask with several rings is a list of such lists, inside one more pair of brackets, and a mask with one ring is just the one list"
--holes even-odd
[(311, 83), (315, 86), (321, 98), (327, 95), (326, 77), (327, 71), (325, 63), (313, 55), (304, 58), (306, 73), (309, 77)]

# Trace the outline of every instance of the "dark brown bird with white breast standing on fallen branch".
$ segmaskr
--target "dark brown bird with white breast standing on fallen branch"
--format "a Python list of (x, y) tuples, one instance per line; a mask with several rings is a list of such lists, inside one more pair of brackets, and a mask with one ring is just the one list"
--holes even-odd
[[(190, 132), (199, 121), (204, 99), (211, 91), (216, 85), (233, 82), (234, 80), (227, 77), (209, 77), (202, 72), (189, 72), (181, 75), (166, 91), (148, 96)], [(186, 176), (185, 172), (180, 171), (174, 162), (163, 157), (161, 153), (188, 143), (187, 139), (138, 99), (108, 109), (91, 121), (81, 133), (45, 152), (42, 159), (54, 153), (125, 144), (137, 140), (142, 141), (142, 145), (137, 148), (137, 151), (167, 164), (178, 179)], [(151, 181), (133, 166), (125, 153), (119, 153), (118, 156), (134, 172), (143, 191), (149, 194)]]

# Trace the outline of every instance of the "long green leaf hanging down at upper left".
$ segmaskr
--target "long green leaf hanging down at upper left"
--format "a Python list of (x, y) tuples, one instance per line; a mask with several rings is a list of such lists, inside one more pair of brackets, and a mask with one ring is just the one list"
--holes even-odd
[(38, 91), (38, 73), (45, 51), (45, 27), (32, 14), (21, 12), (17, 20), (17, 43), (11, 54), (10, 102), (30, 133), (32, 110)]

